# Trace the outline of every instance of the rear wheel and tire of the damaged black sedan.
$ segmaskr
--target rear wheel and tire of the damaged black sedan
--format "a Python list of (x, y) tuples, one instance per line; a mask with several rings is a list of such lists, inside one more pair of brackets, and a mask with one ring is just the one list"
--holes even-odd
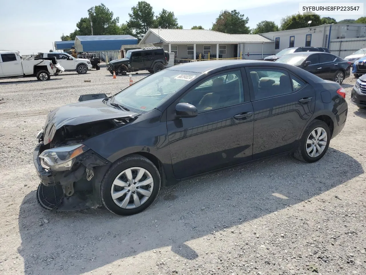
[(328, 150), (330, 137), (329, 126), (324, 121), (311, 121), (299, 140), (294, 157), (303, 162), (318, 161)]

